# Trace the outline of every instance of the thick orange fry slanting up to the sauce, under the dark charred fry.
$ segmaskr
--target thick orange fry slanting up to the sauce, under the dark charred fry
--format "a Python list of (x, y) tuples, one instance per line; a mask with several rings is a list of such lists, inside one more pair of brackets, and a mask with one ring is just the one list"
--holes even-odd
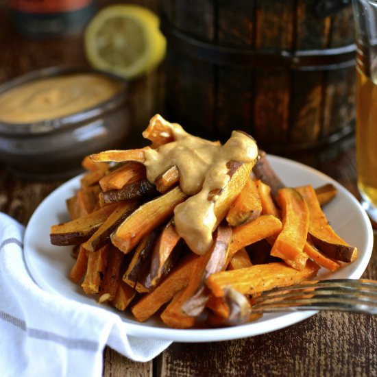
[(143, 204), (112, 233), (110, 236), (112, 243), (122, 252), (130, 252), (145, 234), (169, 219), (173, 215), (175, 206), (182, 203), (186, 197), (187, 195), (177, 186)]

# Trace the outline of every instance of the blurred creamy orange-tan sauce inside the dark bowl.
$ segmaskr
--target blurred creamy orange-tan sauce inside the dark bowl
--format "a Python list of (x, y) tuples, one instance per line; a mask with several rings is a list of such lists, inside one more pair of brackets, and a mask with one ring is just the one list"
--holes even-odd
[(66, 117), (106, 101), (121, 82), (97, 73), (47, 77), (0, 95), (0, 121), (32, 123)]

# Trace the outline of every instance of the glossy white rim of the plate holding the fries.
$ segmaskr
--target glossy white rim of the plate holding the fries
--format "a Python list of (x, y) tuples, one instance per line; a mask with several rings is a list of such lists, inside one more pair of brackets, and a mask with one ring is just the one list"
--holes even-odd
[[(356, 267), (356, 270), (353, 271), (353, 273), (351, 273), (349, 278), (360, 278), (360, 276), (365, 271), (369, 263), (369, 260), (372, 256), (374, 236), (373, 236), (372, 224), (370, 223), (365, 210), (363, 209), (361, 204), (357, 201), (356, 197), (354, 197), (354, 195), (352, 195), (350, 191), (345, 189), (344, 186), (339, 184), (339, 182), (335, 181), (333, 178), (330, 178), (325, 173), (322, 173), (321, 171), (314, 169), (313, 167), (309, 167), (295, 160), (290, 160), (289, 158), (284, 158), (281, 156), (275, 156), (271, 154), (267, 154), (267, 158), (270, 160), (272, 164), (280, 162), (282, 164), (288, 164), (293, 167), (297, 166), (297, 167), (300, 167), (300, 169), (305, 169), (306, 171), (309, 171), (315, 175), (321, 176), (322, 179), (326, 179), (328, 180), (328, 182), (335, 184), (335, 186), (337, 186), (338, 189), (340, 188), (340, 190), (346, 194), (348, 199), (354, 202), (354, 205), (356, 205), (356, 207), (359, 210), (360, 215), (363, 217), (363, 220), (364, 220), (363, 225), (365, 226), (365, 232), (367, 233), (367, 240), (366, 240), (366, 249), (363, 254), (361, 263), (358, 264), (358, 266)], [(67, 189), (67, 187), (75, 186), (75, 183), (79, 182), (80, 177), (82, 177), (82, 175), (77, 175), (71, 178), (71, 180), (64, 182), (57, 189), (53, 190), (49, 195), (47, 195), (47, 197), (45, 197), (45, 199), (43, 199), (42, 202), (40, 202), (40, 204), (38, 205), (38, 207), (32, 214), (32, 217), (30, 217), (27, 223), (27, 226), (25, 229), (25, 237), (24, 237), (25, 261), (26, 261), (26, 264), (30, 273), (32, 274), (32, 278), (36, 282), (38, 287), (40, 287), (44, 291), (53, 293), (54, 295), (59, 295), (62, 299), (73, 300), (74, 302), (78, 302), (78, 301), (74, 300), (71, 297), (66, 297), (66, 295), (63, 295), (59, 291), (51, 289), (50, 286), (44, 284), (44, 280), (40, 278), (40, 276), (38, 275), (38, 271), (35, 271), (34, 269), (33, 260), (32, 260), (32, 252), (29, 250), (28, 241), (31, 237), (32, 224), (34, 223), (35, 219), (38, 217), (38, 213), (40, 212), (41, 208), (45, 206), (45, 203), (47, 202), (47, 200), (49, 200), (49, 198), (52, 197), (52, 195), (58, 195), (60, 191), (64, 191), (64, 189)], [(77, 188), (77, 185), (76, 185), (76, 188)], [(175, 329), (175, 328), (168, 328), (168, 327), (161, 327), (161, 326), (156, 327), (156, 326), (145, 324), (145, 323), (137, 323), (136, 319), (134, 320), (135, 322), (131, 321), (130, 319), (123, 318), (121, 316), (121, 313), (116, 312), (110, 306), (104, 307), (103, 304), (99, 306), (99, 304), (97, 304), (94, 298), (92, 300), (93, 300), (93, 303), (89, 305), (97, 306), (98, 308), (101, 308), (101, 310), (107, 310), (107, 311), (110, 310), (113, 313), (116, 313), (117, 316), (121, 319), (122, 323), (124, 324), (124, 331), (127, 335), (131, 335), (134, 337), (147, 338), (147, 339), (160, 339), (160, 340), (179, 341), (179, 342), (188, 342), (188, 343), (189, 342), (226, 341), (226, 340), (233, 340), (233, 339), (241, 339), (245, 337), (254, 337), (256, 335), (263, 335), (269, 332), (280, 330), (282, 328), (286, 328), (288, 326), (292, 326), (293, 324), (297, 324), (298, 322), (304, 321), (305, 319), (308, 319), (309, 317), (312, 317), (313, 315), (315, 315), (315, 313), (317, 313), (317, 311), (279, 313), (276, 316), (277, 318), (271, 317), (268, 319), (264, 319), (263, 322), (260, 322), (260, 323), (256, 321), (256, 322), (251, 322), (249, 324), (232, 326), (228, 328)], [(86, 305), (87, 303), (80, 302), (80, 304)], [(269, 325), (271, 324), (271, 322), (273, 323), (273, 326), (269, 328)]]

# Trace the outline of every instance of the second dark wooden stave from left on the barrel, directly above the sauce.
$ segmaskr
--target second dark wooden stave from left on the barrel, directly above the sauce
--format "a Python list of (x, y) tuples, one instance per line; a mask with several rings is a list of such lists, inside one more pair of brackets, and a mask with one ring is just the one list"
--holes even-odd
[[(218, 9), (217, 42), (222, 46), (254, 47), (256, 9), (253, 1), (229, 1)], [(240, 18), (240, 14), (244, 16)], [(217, 137), (226, 140), (232, 129), (254, 134), (254, 71), (240, 66), (221, 66), (217, 73), (215, 114)], [(239, 93), (239, 95), (235, 95)]]

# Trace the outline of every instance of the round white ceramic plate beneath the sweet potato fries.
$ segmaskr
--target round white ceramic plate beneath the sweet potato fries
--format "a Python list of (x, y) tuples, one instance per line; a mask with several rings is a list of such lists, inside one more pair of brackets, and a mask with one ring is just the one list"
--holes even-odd
[[(302, 186), (312, 184), (320, 186), (332, 182), (339, 191), (337, 197), (325, 209), (326, 216), (335, 231), (348, 243), (358, 247), (358, 258), (350, 265), (345, 265), (336, 273), (325, 269), (319, 271), (320, 278), (360, 278), (367, 267), (372, 254), (373, 231), (363, 208), (354, 196), (343, 186), (319, 173), (315, 169), (297, 162), (268, 156), (273, 169), (287, 186)], [(73, 284), (67, 276), (73, 259), (70, 256), (71, 247), (53, 246), (49, 242), (50, 226), (68, 221), (65, 199), (71, 197), (80, 185), (80, 177), (69, 180), (56, 191), (53, 191), (38, 206), (29, 221), (25, 233), (25, 258), (29, 270), (37, 284), (56, 295), (64, 296), (77, 302), (99, 306), (93, 297), (86, 296), (80, 287)], [(302, 321), (315, 311), (264, 315), (258, 321), (232, 328), (208, 330), (176, 330), (167, 328), (158, 319), (140, 324), (129, 313), (115, 311), (110, 306), (101, 305), (119, 314), (123, 320), (127, 334), (149, 339), (167, 339), (180, 342), (208, 342), (239, 339), (264, 334), (278, 330)]]

